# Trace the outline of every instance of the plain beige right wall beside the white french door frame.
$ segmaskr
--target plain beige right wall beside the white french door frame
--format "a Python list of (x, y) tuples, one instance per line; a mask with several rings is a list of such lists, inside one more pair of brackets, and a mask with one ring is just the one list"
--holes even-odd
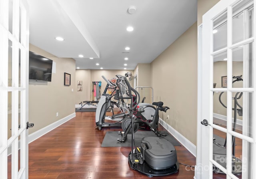
[(154, 101), (170, 109), (160, 117), (196, 145), (197, 23), (151, 63)]

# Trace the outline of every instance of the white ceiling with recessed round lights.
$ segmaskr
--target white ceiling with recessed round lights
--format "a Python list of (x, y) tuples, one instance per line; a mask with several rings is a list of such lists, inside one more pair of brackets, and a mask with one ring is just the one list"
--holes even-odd
[[(197, 20), (197, 0), (28, 3), (30, 44), (57, 57), (74, 58), (80, 69), (134, 70), (138, 63), (152, 62)], [(130, 6), (136, 7), (134, 14), (128, 13)], [(134, 31), (127, 32), (128, 26), (133, 26)], [(57, 41), (56, 36), (65, 40)], [(126, 46), (129, 51), (124, 50)], [(79, 58), (79, 54), (84, 58)], [(129, 59), (124, 60), (125, 57)]]

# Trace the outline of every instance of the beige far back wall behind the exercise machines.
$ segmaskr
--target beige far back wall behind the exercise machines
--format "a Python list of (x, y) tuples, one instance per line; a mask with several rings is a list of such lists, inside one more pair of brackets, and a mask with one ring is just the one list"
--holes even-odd
[[(83, 81), (83, 91), (76, 90), (76, 104), (79, 104), (81, 101), (94, 100), (92, 96), (92, 82), (101, 81), (101, 94), (104, 92), (107, 83), (102, 78), (102, 75), (109, 80), (111, 78), (116, 78), (116, 75), (124, 76), (126, 72), (132, 72), (132, 75), (134, 74), (133, 70), (76, 70), (76, 82), (77, 80)], [(132, 79), (129, 82), (133, 87), (134, 80)]]

